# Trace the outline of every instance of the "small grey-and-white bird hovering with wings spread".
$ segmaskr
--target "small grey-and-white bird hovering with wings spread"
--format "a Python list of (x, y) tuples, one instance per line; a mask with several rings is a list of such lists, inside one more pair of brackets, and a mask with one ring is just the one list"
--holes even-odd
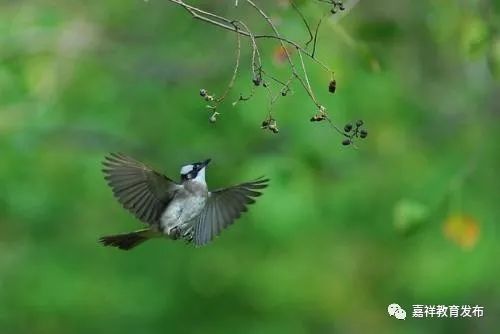
[(146, 228), (103, 236), (105, 246), (130, 250), (152, 238), (184, 240), (204, 246), (234, 223), (269, 184), (263, 176), (227, 188), (208, 190), (205, 170), (211, 159), (185, 165), (180, 182), (123, 153), (102, 162), (104, 178), (115, 198)]

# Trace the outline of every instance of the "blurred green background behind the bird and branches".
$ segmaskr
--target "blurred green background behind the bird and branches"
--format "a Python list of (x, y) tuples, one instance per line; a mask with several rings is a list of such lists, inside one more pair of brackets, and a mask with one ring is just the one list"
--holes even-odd
[[(194, 3), (268, 32), (244, 1)], [(258, 3), (307, 40), (286, 1)], [(329, 10), (298, 5), (312, 25)], [(278, 135), (260, 129), (262, 88), (231, 106), (252, 85), (245, 38), (210, 124), (198, 91), (224, 90), (235, 36), (169, 1), (0, 1), (0, 332), (497, 332), (499, 14), (497, 1), (361, 0), (325, 21), (335, 94), (305, 61), (333, 122), (364, 120), (355, 149), (309, 122), (297, 84), (275, 105)], [(277, 47), (261, 40), (264, 66), (286, 78)], [(172, 177), (211, 157), (213, 188), (272, 183), (205, 248), (123, 252), (97, 243), (140, 227), (103, 180), (110, 151)], [(485, 314), (398, 321), (390, 303)]]

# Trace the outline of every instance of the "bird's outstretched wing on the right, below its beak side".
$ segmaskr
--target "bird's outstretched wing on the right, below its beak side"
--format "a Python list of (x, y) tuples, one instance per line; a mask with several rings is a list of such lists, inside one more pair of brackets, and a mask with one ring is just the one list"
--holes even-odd
[(259, 190), (268, 186), (269, 179), (259, 178), (236, 186), (209, 193), (205, 209), (194, 227), (193, 242), (203, 246), (218, 236), (241, 214), (247, 205), (255, 203), (255, 197), (262, 195)]

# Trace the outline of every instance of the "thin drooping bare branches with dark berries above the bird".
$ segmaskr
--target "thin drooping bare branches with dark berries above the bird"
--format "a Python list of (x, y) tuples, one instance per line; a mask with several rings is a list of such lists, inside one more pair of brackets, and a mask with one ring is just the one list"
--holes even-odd
[[(294, 79), (297, 79), (297, 81), (300, 82), (306, 93), (309, 95), (313, 103), (316, 105), (318, 108), (318, 112), (316, 115), (314, 115), (311, 118), (311, 121), (324, 121), (326, 120), (329, 125), (338, 133), (346, 137), (342, 144), (343, 145), (352, 145), (355, 146), (353, 139), (354, 138), (365, 138), (366, 137), (366, 130), (361, 129), (360, 127), (362, 126), (362, 121), (358, 121), (356, 124), (356, 129), (354, 131), (351, 131), (353, 129), (352, 125), (348, 124), (344, 127), (344, 131), (342, 131), (340, 128), (338, 128), (329, 118), (328, 114), (326, 113), (326, 108), (322, 106), (318, 100), (316, 99), (316, 96), (313, 93), (312, 87), (311, 87), (311, 82), (309, 81), (309, 76), (307, 73), (307, 68), (306, 64), (304, 62), (304, 56), (308, 57), (311, 59), (314, 63), (318, 64), (321, 66), (324, 70), (328, 71), (331, 75), (331, 81), (329, 85), (329, 91), (333, 93), (335, 91), (335, 88), (331, 88), (332, 85), (335, 87), (335, 81), (333, 79), (333, 71), (323, 62), (318, 60), (316, 58), (316, 47), (317, 47), (317, 41), (318, 41), (318, 34), (319, 34), (319, 28), (321, 26), (321, 23), (323, 22), (324, 18), (326, 15), (323, 15), (320, 20), (318, 21), (318, 24), (316, 25), (316, 28), (314, 30), (314, 33), (311, 30), (311, 26), (309, 25), (307, 19), (305, 16), (302, 14), (302, 12), (299, 10), (297, 5), (294, 3), (293, 0), (290, 0), (291, 6), (293, 9), (298, 13), (300, 16), (302, 22), (304, 23), (307, 32), (309, 34), (309, 40), (305, 43), (304, 46), (298, 44), (297, 42), (288, 39), (286, 37), (283, 37), (273, 20), (266, 14), (266, 12), (259, 7), (254, 0), (245, 0), (245, 2), (250, 5), (253, 9), (257, 11), (260, 17), (266, 23), (271, 27), (273, 34), (268, 35), (268, 34), (255, 34), (249, 26), (243, 22), (240, 19), (228, 19), (226, 17), (211, 13), (209, 11), (200, 9), (198, 7), (195, 7), (193, 5), (185, 3), (183, 0), (168, 0), (169, 2), (176, 4), (182, 8), (184, 8), (194, 19), (203, 21), (205, 23), (211, 24), (213, 26), (216, 26), (218, 28), (233, 32), (237, 36), (237, 47), (236, 47), (236, 61), (235, 61), (235, 66), (233, 69), (233, 75), (231, 77), (231, 80), (229, 81), (229, 84), (223, 94), (215, 98), (213, 94), (208, 94), (207, 90), (201, 89), (200, 90), (200, 95), (205, 98), (206, 101), (212, 101), (212, 105), (208, 105), (207, 108), (213, 111), (212, 116), (210, 117), (210, 121), (215, 122), (216, 121), (216, 116), (219, 115), (217, 112), (217, 107), (219, 106), (220, 103), (222, 103), (225, 98), (227, 97), (227, 94), (229, 91), (233, 88), (235, 80), (238, 76), (238, 71), (240, 69), (240, 59), (241, 59), (241, 36), (248, 37), (250, 39), (250, 46), (252, 48), (252, 58), (251, 58), (251, 72), (252, 72), (252, 81), (253, 81), (253, 86), (252, 90), (250, 92), (250, 95), (245, 97), (242, 94), (240, 94), (240, 97), (237, 101), (233, 102), (233, 105), (236, 105), (239, 101), (247, 101), (251, 97), (253, 97), (255, 89), (257, 86), (263, 86), (269, 95), (269, 106), (268, 106), (268, 117), (266, 120), (262, 122), (262, 128), (264, 129), (269, 129), (274, 133), (278, 133), (278, 127), (276, 120), (272, 117), (272, 109), (273, 105), (276, 103), (276, 101), (279, 99), (280, 96), (286, 96), (288, 92), (291, 90), (290, 85)], [(354, 4), (356, 4), (359, 0), (353, 0)], [(335, 0), (316, 0), (318, 3), (325, 3), (331, 5), (330, 13), (335, 14), (337, 10), (339, 11), (344, 11), (345, 7), (343, 4), (343, 1), (335, 1)], [(235, 0), (234, 5), (237, 7), (239, 1)], [(350, 6), (351, 8), (354, 5)], [(257, 44), (257, 41), (259, 39), (274, 39), (277, 40), (280, 44), (281, 49), (283, 50), (283, 53), (286, 57), (286, 60), (290, 66), (291, 70), (291, 76), (283, 81), (280, 80), (270, 73), (267, 73), (263, 69), (262, 65), (262, 57), (261, 53), (259, 50), (259, 46)], [(312, 51), (308, 51), (308, 47), (310, 43), (313, 43)], [(303, 73), (303, 77), (299, 74), (297, 71), (297, 66), (294, 63), (294, 60), (292, 59), (292, 55), (289, 51), (288, 47), (293, 47), (298, 53), (298, 58), (300, 60), (300, 67)], [(266, 80), (263, 80), (263, 77), (266, 78)], [(273, 81), (274, 83), (277, 83), (281, 85), (281, 89), (279, 93), (273, 94), (273, 90), (269, 86), (269, 83), (267, 79)], [(361, 123), (359, 123), (361, 122)], [(359, 123), (359, 125), (358, 125)]]

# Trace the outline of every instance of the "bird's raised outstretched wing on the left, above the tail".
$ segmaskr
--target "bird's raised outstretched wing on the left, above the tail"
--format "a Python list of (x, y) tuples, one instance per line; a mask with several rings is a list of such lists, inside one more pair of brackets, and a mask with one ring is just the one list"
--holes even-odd
[(180, 185), (121, 153), (103, 161), (104, 178), (124, 208), (147, 224), (157, 224)]

